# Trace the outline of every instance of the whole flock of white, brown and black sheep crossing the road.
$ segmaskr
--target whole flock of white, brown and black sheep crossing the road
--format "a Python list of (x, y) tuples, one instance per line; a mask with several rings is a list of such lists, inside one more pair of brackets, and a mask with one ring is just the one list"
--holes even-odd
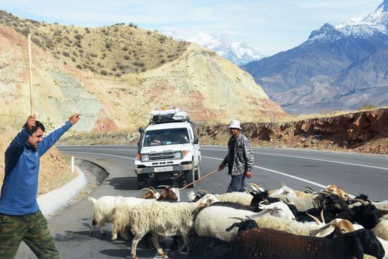
[[(173, 236), (177, 250), (190, 259), (236, 258), (388, 258), (388, 201), (367, 195), (351, 198), (335, 185), (315, 192), (281, 188), (264, 191), (250, 183), (244, 193), (190, 192), (190, 202), (177, 202), (170, 186), (159, 194), (144, 188), (135, 197), (89, 198), (95, 226), (113, 222), (111, 240), (132, 234), (132, 258), (143, 236), (168, 258), (159, 244)], [(181, 239), (179, 239), (181, 236)], [(182, 241), (183, 239), (183, 241)], [(172, 249), (171, 249), (172, 250)]]

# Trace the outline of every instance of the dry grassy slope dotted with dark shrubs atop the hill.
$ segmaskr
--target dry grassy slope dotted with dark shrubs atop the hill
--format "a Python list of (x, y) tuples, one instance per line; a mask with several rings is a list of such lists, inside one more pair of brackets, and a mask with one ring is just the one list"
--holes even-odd
[(0, 23), (27, 36), (63, 64), (120, 77), (144, 72), (177, 59), (188, 42), (143, 30), (132, 23), (82, 28), (19, 18), (0, 11)]

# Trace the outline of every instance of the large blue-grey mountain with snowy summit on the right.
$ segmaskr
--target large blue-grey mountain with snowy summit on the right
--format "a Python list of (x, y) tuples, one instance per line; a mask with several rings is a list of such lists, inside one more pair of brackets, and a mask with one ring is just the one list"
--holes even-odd
[(364, 18), (325, 23), (298, 47), (243, 68), (287, 112), (388, 105), (388, 0)]

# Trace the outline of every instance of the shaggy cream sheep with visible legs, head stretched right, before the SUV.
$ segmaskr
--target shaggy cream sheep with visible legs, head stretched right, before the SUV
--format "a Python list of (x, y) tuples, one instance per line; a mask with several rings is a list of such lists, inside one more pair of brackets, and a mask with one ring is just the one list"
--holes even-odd
[(152, 201), (136, 205), (130, 211), (129, 219), (132, 240), (131, 255), (134, 259), (138, 242), (147, 232), (152, 234), (152, 243), (163, 258), (168, 258), (159, 246), (159, 236), (183, 236), (183, 245), (178, 249), (180, 253), (188, 246), (188, 233), (194, 227), (194, 219), (202, 207), (219, 201), (215, 195), (207, 194), (195, 203), (162, 203)]

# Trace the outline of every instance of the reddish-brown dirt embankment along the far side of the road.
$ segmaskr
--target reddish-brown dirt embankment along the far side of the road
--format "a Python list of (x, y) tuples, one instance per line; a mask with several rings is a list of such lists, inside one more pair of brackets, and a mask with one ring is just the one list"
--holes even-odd
[[(242, 124), (253, 145), (388, 154), (388, 109), (283, 124)], [(202, 144), (225, 145), (225, 124), (199, 124)]]

